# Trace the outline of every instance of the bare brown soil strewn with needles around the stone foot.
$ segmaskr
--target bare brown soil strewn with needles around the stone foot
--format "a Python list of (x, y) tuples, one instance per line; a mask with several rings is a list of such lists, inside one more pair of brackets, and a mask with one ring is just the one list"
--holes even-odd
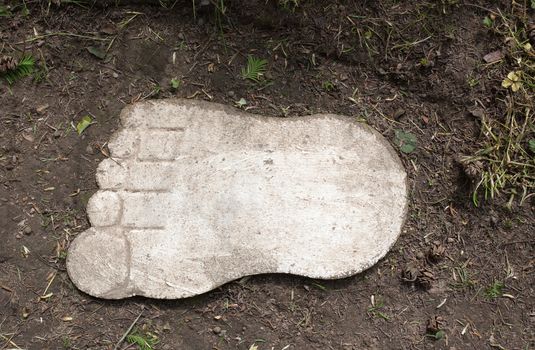
[[(482, 59), (504, 38), (483, 19), (522, 5), (225, 0), (224, 13), (194, 14), (191, 1), (113, 2), (26, 1), (0, 17), (0, 54), (37, 59), (33, 77), (0, 85), (0, 349), (136, 349), (119, 342), (131, 325), (156, 349), (535, 348), (533, 197), (476, 207), (459, 163), (482, 137), (474, 108), (500, 115), (507, 95), (507, 61), (489, 71)], [(248, 55), (268, 61), (261, 84), (241, 77)], [(410, 208), (392, 251), (343, 280), (252, 276), (176, 301), (79, 292), (65, 257), (119, 112), (173, 96), (350, 115), (396, 148), (396, 130), (415, 135), (400, 152)]]

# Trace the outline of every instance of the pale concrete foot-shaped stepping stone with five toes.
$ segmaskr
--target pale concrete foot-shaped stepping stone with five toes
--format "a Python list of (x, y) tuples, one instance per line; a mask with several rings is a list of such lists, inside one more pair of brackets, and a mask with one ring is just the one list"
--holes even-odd
[(89, 200), (92, 227), (69, 249), (90, 295), (183, 298), (261, 273), (334, 279), (396, 241), (406, 174), (353, 118), (273, 118), (189, 100), (121, 114)]

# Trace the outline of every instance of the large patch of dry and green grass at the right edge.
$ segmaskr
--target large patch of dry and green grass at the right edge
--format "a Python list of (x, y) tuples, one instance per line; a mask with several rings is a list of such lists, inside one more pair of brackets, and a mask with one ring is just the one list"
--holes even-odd
[(477, 169), (474, 205), (479, 205), (481, 193), (485, 200), (506, 194), (511, 208), (515, 199), (522, 205), (535, 195), (535, 52), (524, 14), (505, 16), (498, 10), (494, 17), (491, 30), (510, 43), (506, 64), (490, 67), (490, 73), (501, 77), (502, 88), (507, 90), (505, 99), (499, 100), (504, 112), (482, 117), (481, 148), (462, 161)]

